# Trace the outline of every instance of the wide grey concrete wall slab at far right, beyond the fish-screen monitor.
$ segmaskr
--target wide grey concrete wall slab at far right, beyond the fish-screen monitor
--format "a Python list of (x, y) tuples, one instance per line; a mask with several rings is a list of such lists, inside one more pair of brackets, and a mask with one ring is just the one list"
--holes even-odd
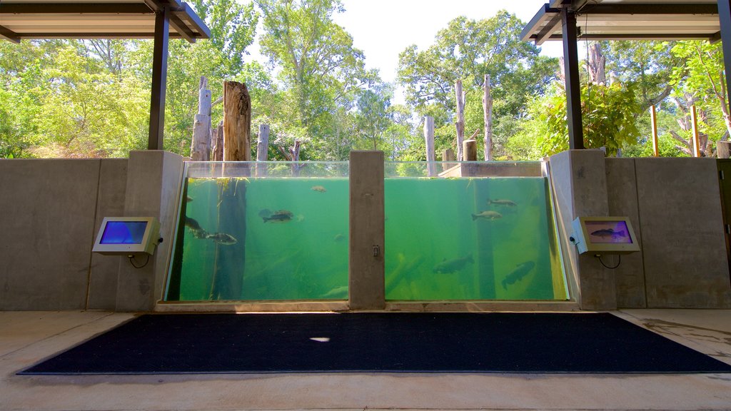
[(648, 308), (728, 308), (714, 159), (635, 159)]

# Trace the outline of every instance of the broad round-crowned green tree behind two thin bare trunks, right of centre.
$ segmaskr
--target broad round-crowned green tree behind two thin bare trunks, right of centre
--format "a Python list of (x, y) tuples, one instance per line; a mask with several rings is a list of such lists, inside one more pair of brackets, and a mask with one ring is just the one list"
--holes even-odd
[[(495, 154), (503, 155), (504, 131), (525, 115), (531, 96), (542, 94), (556, 72), (556, 59), (539, 56), (536, 46), (521, 41), (523, 26), (504, 10), (485, 20), (459, 17), (436, 34), (428, 49), (412, 45), (399, 55), (398, 82), (406, 89), (406, 102), (420, 116), (435, 117), (437, 149), (452, 146), (456, 80), (462, 80), (467, 93), (465, 129), (484, 127), (482, 83), (490, 75), (493, 117), (503, 120), (493, 127)], [(435, 116), (435, 110), (444, 115)]]

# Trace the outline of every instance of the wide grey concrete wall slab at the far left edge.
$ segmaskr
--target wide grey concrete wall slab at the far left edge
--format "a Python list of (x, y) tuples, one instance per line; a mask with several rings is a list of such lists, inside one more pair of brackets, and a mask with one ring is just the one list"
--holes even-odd
[(0, 161), (0, 309), (86, 307), (100, 164)]

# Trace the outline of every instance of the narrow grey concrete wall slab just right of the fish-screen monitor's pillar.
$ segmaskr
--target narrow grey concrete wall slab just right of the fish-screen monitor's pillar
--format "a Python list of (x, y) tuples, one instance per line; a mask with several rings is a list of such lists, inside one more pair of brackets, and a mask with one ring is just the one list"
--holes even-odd
[[(642, 245), (640, 211), (637, 206), (637, 178), (635, 159), (606, 159), (607, 202), (610, 216), (628, 216), (635, 229), (637, 241)], [(619, 308), (644, 308), (645, 271), (642, 251), (625, 254), (614, 270)]]

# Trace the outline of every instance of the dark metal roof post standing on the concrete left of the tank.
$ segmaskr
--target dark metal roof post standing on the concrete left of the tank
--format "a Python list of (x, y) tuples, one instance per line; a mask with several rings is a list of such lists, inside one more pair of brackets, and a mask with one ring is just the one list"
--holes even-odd
[(148, 150), (162, 150), (165, 128), (165, 89), (167, 83), (167, 44), (170, 31), (170, 7), (155, 15), (155, 41), (152, 57), (152, 92)]

